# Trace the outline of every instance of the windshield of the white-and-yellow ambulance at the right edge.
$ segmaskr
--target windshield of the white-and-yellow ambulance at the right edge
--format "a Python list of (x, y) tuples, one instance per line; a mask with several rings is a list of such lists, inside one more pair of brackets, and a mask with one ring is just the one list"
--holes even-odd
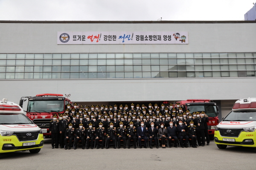
[(231, 111), (223, 121), (256, 121), (256, 111)]

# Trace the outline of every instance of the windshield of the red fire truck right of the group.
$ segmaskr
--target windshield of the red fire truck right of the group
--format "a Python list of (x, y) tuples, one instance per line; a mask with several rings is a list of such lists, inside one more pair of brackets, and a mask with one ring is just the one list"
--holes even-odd
[(190, 105), (189, 106), (190, 113), (197, 112), (197, 111), (205, 111), (205, 114), (208, 117), (216, 117), (217, 108), (214, 105)]

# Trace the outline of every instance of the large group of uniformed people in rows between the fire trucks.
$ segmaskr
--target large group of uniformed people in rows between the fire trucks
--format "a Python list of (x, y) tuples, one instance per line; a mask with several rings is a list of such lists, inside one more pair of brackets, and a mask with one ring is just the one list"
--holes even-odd
[[(207, 137), (207, 145), (209, 145), (209, 134), (207, 128), (208, 116), (204, 111), (190, 113), (185, 111), (184, 105), (180, 103), (175, 105), (170, 104), (165, 107), (162, 104), (160, 107), (155, 104), (154, 107), (150, 103), (148, 107), (145, 105), (131, 104), (123, 107), (119, 105), (104, 106), (91, 105), (85, 108), (77, 103), (67, 104), (65, 113), (54, 115), (53, 120), (49, 124), (49, 132), (52, 135), (52, 149), (61, 148), (70, 149), (72, 141), (74, 141), (74, 149), (81, 142), (82, 149), (91, 149), (96, 142), (96, 148), (109, 148), (110, 142), (113, 142), (113, 147), (120, 148), (121, 141), (123, 148), (131, 147), (131, 142), (134, 143), (134, 148), (137, 147), (137, 141), (142, 148), (152, 147), (154, 141), (158, 148), (159, 140), (162, 148), (166, 148), (166, 141), (169, 142), (169, 147), (172, 147), (171, 142), (174, 142), (174, 147), (188, 147), (189, 139), (192, 140), (192, 147), (205, 145), (205, 136)], [(58, 119), (57, 119), (58, 118)], [(86, 146), (85, 146), (86, 142)], [(105, 143), (106, 142), (106, 143)]]

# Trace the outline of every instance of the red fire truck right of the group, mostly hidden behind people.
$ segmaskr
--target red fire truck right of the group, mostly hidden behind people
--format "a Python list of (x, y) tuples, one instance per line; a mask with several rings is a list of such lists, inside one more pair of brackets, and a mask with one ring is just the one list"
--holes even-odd
[(196, 111), (205, 111), (206, 115), (209, 117), (208, 125), (208, 133), (210, 135), (210, 139), (214, 138), (214, 130), (216, 125), (219, 123), (218, 119), (218, 106), (214, 102), (210, 102), (210, 99), (187, 99), (180, 101), (180, 106), (184, 105), (186, 109), (190, 111), (190, 113)]

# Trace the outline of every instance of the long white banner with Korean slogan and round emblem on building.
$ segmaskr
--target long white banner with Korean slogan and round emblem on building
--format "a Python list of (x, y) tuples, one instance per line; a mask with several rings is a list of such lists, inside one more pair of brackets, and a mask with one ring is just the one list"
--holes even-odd
[(188, 44), (188, 32), (58, 31), (57, 44)]

